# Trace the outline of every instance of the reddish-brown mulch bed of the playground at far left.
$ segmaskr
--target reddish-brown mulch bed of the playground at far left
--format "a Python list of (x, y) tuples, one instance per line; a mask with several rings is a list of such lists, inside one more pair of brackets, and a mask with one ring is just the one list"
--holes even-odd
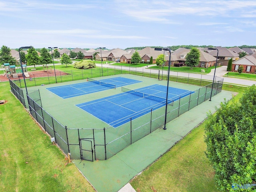
[[(56, 76), (62, 76), (62, 75), (69, 75), (68, 73), (62, 72), (60, 70), (55, 70), (56, 72)], [(37, 78), (37, 77), (50, 77), (50, 76), (55, 76), (54, 72), (46, 72), (46, 71), (31, 71), (28, 72), (28, 74), (30, 75), (30, 77), (32, 78)], [(22, 74), (19, 75), (20, 78), (22, 78)], [(25, 77), (26, 79), (29, 77)], [(11, 80), (18, 80), (19, 78), (12, 78), (10, 77)], [(9, 79), (6, 78), (5, 76), (3, 76), (2, 74), (0, 75), (0, 82), (4, 82), (4, 81), (8, 81)]]

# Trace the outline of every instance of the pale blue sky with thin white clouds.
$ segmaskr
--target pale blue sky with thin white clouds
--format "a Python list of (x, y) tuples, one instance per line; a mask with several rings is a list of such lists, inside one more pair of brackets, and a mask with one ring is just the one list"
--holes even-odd
[(0, 46), (256, 46), (256, 1), (0, 0)]

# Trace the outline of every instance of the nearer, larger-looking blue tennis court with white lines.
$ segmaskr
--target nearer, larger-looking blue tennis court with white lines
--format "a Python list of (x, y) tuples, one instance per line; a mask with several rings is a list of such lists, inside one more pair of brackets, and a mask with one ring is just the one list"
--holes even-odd
[[(122, 87), (121, 94), (77, 104), (82, 110), (106, 122), (114, 128), (138, 118), (152, 110), (166, 105), (166, 86), (154, 84), (151, 86), (129, 90)], [(188, 96), (194, 91), (169, 87), (168, 104)]]

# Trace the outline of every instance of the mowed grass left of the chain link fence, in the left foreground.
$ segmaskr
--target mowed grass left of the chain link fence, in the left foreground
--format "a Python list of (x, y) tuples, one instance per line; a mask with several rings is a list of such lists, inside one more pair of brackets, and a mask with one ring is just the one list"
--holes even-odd
[(0, 105), (0, 191), (93, 192), (12, 95), (9, 82), (1, 82), (0, 90), (0, 100), (7, 101)]

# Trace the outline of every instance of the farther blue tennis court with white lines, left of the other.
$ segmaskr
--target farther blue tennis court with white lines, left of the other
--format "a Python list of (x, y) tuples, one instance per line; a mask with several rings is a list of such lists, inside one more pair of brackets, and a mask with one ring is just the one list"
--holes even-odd
[(99, 81), (88, 78), (88, 80), (90, 81), (46, 89), (59, 97), (66, 99), (141, 82), (124, 77), (108, 78)]

